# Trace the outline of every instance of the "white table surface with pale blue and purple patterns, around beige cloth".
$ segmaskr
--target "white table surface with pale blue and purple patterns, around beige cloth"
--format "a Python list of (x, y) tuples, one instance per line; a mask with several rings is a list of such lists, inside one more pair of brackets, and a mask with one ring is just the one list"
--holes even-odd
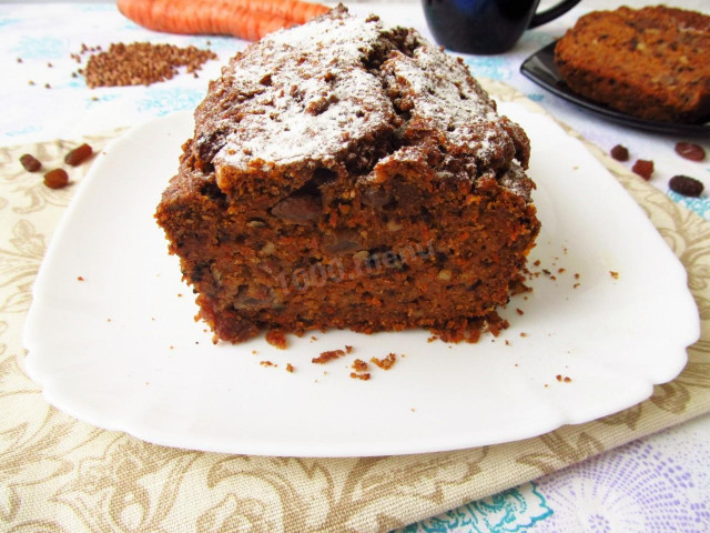
[[(549, 3), (549, 2), (547, 2)], [(539, 48), (560, 37), (574, 21), (594, 9), (649, 4), (642, 0), (587, 0), (562, 18), (528, 31), (518, 44), (500, 56), (463, 56), (475, 76), (505, 81), (539, 102), (554, 117), (584, 137), (609, 150), (621, 143), (636, 159), (652, 159), (651, 183), (669, 198), (704, 219), (710, 201), (687, 199), (668, 191), (674, 174), (692, 175), (710, 185), (710, 159), (694, 163), (679, 158), (673, 145), (680, 139), (625, 128), (607, 122), (555, 97), (519, 73), (520, 63)], [(707, 0), (667, 2), (710, 13)], [(377, 12), (386, 22), (412, 26), (430, 38), (417, 2), (352, 4), (356, 12)], [(220, 66), (244, 42), (220, 37), (151, 33), (122, 18), (112, 3), (73, 2), (58, 4), (0, 3), (0, 145), (13, 145), (132, 125), (152, 117), (192, 109), (203, 98), (207, 81), (219, 76)], [(200, 78), (180, 76), (151, 87), (90, 90), (83, 79), (72, 78), (79, 66), (70, 53), (81, 44), (151, 40), (175, 44), (209, 46), (219, 61), (205, 64)], [(18, 62), (21, 58), (22, 62)], [(51, 67), (50, 67), (51, 63)], [(33, 86), (29, 81), (34, 82)], [(50, 88), (44, 84), (49, 83)], [(710, 153), (708, 139), (700, 142)], [(532, 147), (535, 149), (535, 147)], [(2, 213), (0, 212), (0, 222)], [(680, 524), (710, 531), (710, 416), (703, 416), (660, 434), (637, 441), (594, 460), (568, 467), (506, 491), (486, 501), (471, 502), (405, 531), (426, 532), (559, 532), (559, 531), (672, 531)], [(670, 465), (670, 467), (669, 467)], [(648, 497), (640, 497), (639, 495)], [(657, 505), (672, 494), (672, 507)], [(515, 500), (527, 512), (501, 512)]]

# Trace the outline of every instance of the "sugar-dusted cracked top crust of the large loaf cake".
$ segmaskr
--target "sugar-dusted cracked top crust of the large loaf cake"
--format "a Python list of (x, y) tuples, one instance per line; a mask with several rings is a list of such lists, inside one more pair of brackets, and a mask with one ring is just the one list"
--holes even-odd
[(374, 174), (438, 147), (437, 175), (475, 180), (515, 153), (510, 123), (463, 62), (344, 8), (237, 54), (196, 119), (200, 160), (223, 190), (253, 171), (335, 168), (358, 143), (381, 147)]

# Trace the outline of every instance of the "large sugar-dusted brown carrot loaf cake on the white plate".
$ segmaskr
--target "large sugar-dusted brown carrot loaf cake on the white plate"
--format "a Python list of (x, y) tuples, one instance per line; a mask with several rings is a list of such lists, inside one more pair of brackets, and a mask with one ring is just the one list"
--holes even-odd
[(539, 231), (524, 131), (460, 60), (376, 17), (339, 7), (252, 44), (195, 123), (156, 219), (222, 340), (469, 338)]

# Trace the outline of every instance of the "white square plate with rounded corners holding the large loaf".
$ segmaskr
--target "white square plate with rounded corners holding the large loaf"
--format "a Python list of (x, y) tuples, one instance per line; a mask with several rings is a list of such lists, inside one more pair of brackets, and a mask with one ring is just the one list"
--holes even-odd
[[(425, 331), (329, 331), (316, 341), (290, 335), (285, 351), (263, 336), (214, 345), (193, 321), (192, 291), (153, 220), (192, 134), (192, 117), (180, 113), (116, 140), (81, 183), (34, 284), (29, 374), (50, 403), (94, 425), (171, 446), (261, 455), (494, 444), (647, 399), (681, 371), (686, 346), (699, 336), (686, 271), (580, 142), (519, 104), (500, 111), (532, 142), (542, 231), (530, 261), (550, 274), (534, 278), (534, 292), (501, 311), (511, 325), (499, 338), (455, 345), (429, 343)], [(352, 355), (311, 362), (346, 344)], [(355, 358), (389, 352), (399, 354), (389, 371), (371, 365), (369, 381), (349, 378)]]

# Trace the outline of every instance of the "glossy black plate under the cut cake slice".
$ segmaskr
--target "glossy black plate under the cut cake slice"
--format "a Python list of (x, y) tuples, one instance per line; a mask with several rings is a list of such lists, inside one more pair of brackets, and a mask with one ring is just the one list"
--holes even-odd
[(660, 133), (680, 133), (683, 135), (710, 135), (710, 123), (683, 124), (677, 122), (661, 122), (658, 120), (639, 119), (630, 114), (610, 109), (604, 103), (595, 102), (588, 98), (576, 94), (567, 87), (559, 76), (557, 66), (555, 64), (555, 44), (557, 41), (549, 43), (547, 47), (538, 50), (524, 61), (520, 66), (520, 72), (535, 83), (544, 87), (548, 91), (554, 92), (568, 102), (591, 111), (599, 117), (618, 122), (623, 125), (639, 128), (641, 130), (657, 131)]

